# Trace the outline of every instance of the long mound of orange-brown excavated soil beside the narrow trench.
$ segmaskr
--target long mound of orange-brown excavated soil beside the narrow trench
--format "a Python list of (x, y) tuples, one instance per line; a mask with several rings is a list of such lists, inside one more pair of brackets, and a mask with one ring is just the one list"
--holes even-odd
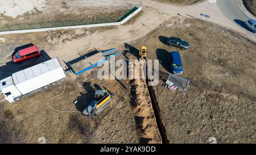
[(130, 81), (130, 104), (137, 125), (139, 143), (161, 144), (162, 138), (145, 79)]

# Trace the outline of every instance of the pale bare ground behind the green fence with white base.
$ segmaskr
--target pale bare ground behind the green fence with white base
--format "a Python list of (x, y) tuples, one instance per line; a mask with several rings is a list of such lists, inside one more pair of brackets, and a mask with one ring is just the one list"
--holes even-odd
[[(3, 1), (3, 0), (1, 0)], [(5, 1), (0, 12), (0, 25), (15, 23), (35, 23), (66, 19), (97, 19), (99, 22), (117, 20), (132, 9), (137, 2), (131, 1)], [(24, 11), (25, 10), (25, 11)], [(105, 19), (106, 18), (106, 19)]]

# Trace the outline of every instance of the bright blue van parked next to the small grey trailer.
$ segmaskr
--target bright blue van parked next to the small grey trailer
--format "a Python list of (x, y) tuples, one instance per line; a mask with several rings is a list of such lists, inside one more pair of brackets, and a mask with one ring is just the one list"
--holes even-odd
[(171, 52), (169, 61), (171, 63), (172, 73), (176, 75), (181, 75), (183, 73), (183, 65), (180, 58), (180, 53), (177, 51)]

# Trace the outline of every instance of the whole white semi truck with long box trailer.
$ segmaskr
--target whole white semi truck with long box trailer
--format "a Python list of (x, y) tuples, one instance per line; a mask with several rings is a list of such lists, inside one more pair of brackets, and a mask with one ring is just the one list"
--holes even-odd
[(2, 79), (0, 81), (0, 91), (6, 100), (13, 103), (32, 91), (40, 88), (48, 89), (50, 84), (56, 85), (57, 81), (65, 77), (59, 60), (53, 58)]

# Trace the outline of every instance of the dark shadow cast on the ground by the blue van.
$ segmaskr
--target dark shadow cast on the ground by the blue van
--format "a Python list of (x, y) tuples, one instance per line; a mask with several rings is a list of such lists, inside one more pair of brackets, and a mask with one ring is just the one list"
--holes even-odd
[(167, 72), (171, 73), (171, 64), (169, 62), (170, 52), (165, 49), (156, 49), (156, 56), (158, 57), (159, 63), (163, 66)]

